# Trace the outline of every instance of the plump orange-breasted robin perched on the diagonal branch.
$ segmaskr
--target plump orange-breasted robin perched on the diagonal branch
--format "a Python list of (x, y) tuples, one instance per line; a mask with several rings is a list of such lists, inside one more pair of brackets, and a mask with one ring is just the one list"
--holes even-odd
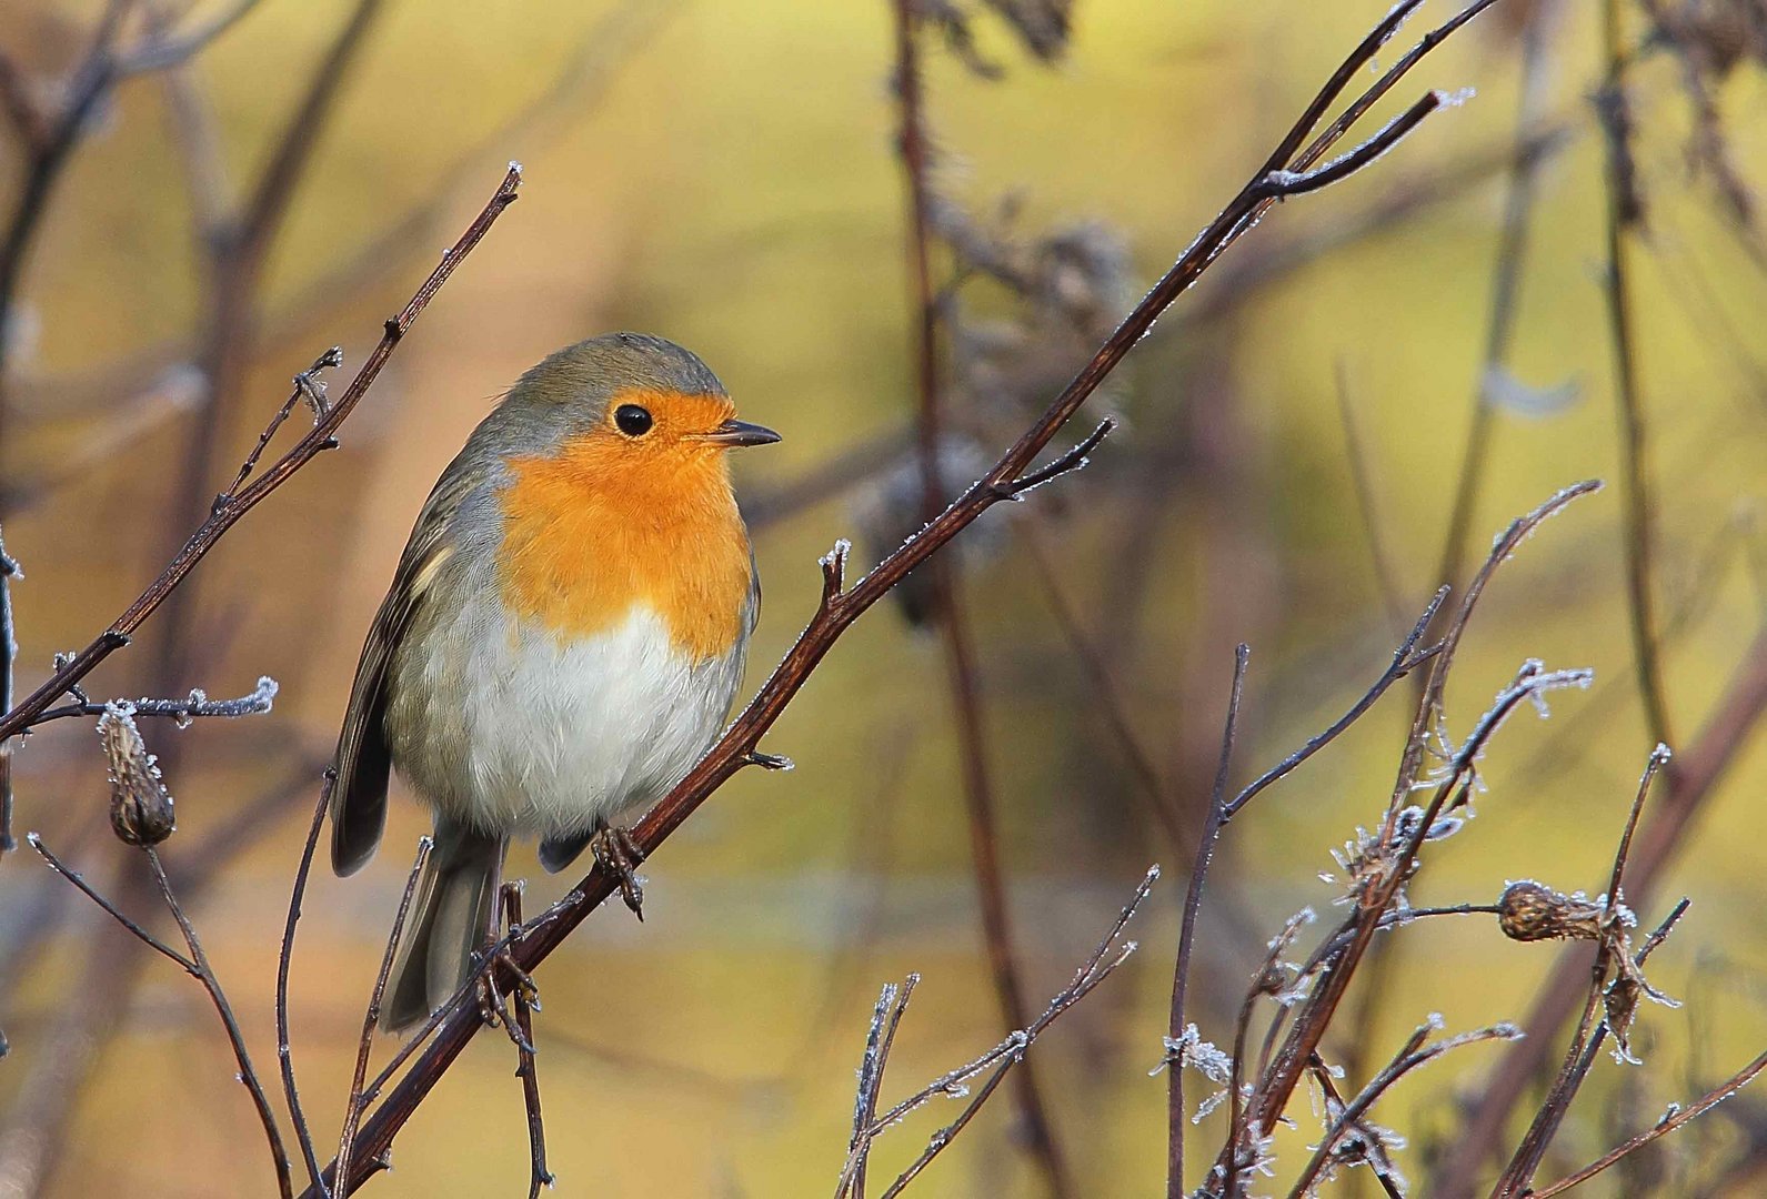
[(511, 837), (553, 872), (588, 846), (641, 913), (618, 821), (710, 749), (760, 609), (724, 450), (777, 440), (687, 350), (608, 334), (523, 374), (442, 471), (368, 630), (330, 805), (337, 874), (375, 855), (389, 768), (435, 809), (383, 1029), (472, 973)]

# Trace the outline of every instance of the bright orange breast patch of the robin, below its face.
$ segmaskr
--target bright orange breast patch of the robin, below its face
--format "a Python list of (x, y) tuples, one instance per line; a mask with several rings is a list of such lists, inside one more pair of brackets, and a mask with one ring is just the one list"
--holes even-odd
[(562, 639), (604, 632), (641, 606), (691, 660), (723, 657), (742, 636), (749, 590), (724, 456), (627, 449), (588, 434), (557, 457), (511, 463), (504, 602)]

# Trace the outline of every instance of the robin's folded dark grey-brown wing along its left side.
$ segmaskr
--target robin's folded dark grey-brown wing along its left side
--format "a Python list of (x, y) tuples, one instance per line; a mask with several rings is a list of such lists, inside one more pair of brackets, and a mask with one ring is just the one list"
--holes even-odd
[(405, 544), (399, 569), (392, 576), (392, 590), (380, 602), (375, 623), (362, 645), (362, 660), (355, 667), (355, 685), (350, 689), (350, 708), (337, 735), (337, 756), (332, 761), (337, 780), (332, 784), (332, 871), (353, 874), (375, 856), (380, 833), (387, 825), (387, 777), (392, 754), (382, 720), (387, 713), (387, 675), (392, 653), (422, 606), (442, 563), (454, 553), (447, 539), (449, 524), (461, 500), (477, 480), (459, 463), (444, 473), (429, 501), (424, 503), (412, 539)]

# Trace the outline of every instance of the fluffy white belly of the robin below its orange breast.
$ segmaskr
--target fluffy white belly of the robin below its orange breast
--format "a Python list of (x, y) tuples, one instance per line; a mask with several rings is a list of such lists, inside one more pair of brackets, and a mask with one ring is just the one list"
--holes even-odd
[(445, 814), (505, 833), (581, 832), (663, 798), (717, 738), (742, 675), (740, 648), (696, 666), (641, 607), (562, 643), (468, 604), (449, 634), (431, 645), (454, 650), (398, 664), (394, 763)]

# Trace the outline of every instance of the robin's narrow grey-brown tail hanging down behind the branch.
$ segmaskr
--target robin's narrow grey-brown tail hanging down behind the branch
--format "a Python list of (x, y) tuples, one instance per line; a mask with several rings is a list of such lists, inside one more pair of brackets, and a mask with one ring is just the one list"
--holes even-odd
[(447, 1003), (466, 982), (474, 954), (484, 946), (493, 927), (491, 904), (497, 902), (509, 839), (486, 837), (438, 816), (435, 842), (380, 1008), (380, 1028), (387, 1033), (422, 1024)]

